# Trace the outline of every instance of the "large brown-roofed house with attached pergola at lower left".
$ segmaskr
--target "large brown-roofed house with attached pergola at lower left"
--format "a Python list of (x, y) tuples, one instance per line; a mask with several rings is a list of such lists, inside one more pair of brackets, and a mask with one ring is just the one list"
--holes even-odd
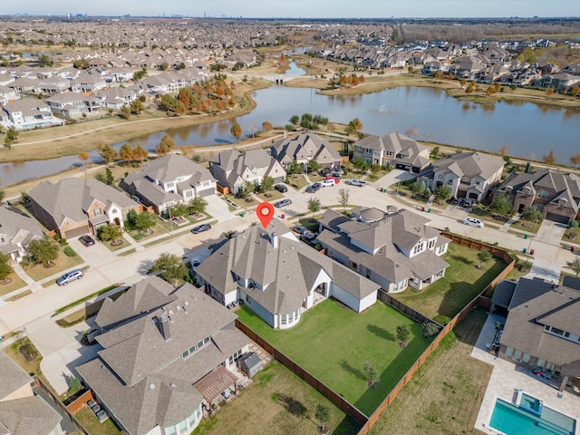
[(189, 435), (221, 392), (237, 391), (250, 340), (236, 317), (189, 283), (150, 276), (105, 299), (97, 357), (76, 370), (123, 433)]

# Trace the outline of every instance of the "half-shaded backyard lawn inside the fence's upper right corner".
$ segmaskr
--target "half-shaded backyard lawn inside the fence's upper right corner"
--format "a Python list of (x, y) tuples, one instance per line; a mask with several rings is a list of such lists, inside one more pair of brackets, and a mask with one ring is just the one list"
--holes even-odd
[(408, 287), (393, 296), (431, 319), (438, 314), (452, 318), (506, 267), (503, 260), (492, 257), (478, 269), (478, 252), (449, 243), (449, 251), (442, 257), (449, 263), (445, 276), (424, 290)]

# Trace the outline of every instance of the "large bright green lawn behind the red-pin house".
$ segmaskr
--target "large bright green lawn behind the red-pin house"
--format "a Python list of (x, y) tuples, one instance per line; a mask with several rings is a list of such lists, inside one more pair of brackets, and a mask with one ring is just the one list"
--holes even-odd
[[(246, 305), (237, 311), (240, 320), (332, 388), (366, 415), (382, 402), (407, 372), (430, 340), (420, 324), (377, 302), (361, 314), (333, 299), (303, 314), (300, 323), (285, 331), (272, 329)], [(410, 331), (401, 348), (397, 326)], [(377, 372), (378, 382), (368, 387), (364, 362)]]

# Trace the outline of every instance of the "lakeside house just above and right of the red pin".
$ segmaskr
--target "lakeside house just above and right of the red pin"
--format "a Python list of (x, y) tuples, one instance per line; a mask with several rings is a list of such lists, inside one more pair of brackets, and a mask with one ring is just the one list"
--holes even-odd
[(323, 168), (338, 167), (343, 161), (328, 140), (311, 132), (278, 140), (270, 147), (270, 150), (272, 157), (278, 160), (286, 170), (290, 169), (294, 161), (306, 166), (308, 161), (316, 160)]

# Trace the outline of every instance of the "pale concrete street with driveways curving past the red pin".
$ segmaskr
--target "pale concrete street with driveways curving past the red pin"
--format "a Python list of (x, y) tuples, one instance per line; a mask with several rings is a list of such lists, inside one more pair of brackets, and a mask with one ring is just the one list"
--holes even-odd
[[(396, 188), (389, 189), (387, 192), (380, 189), (396, 186), (397, 181), (402, 181), (410, 175), (406, 172), (393, 170), (384, 178), (367, 184), (363, 188), (348, 186), (342, 182), (334, 187), (320, 189), (314, 194), (305, 193), (304, 189), (289, 189), (285, 197), (292, 199), (293, 203), (288, 208), (276, 208), (276, 216), (285, 213), (286, 218), (283, 221), (288, 227), (291, 227), (296, 223), (296, 215), (307, 213), (308, 199), (319, 198), (323, 207), (337, 206), (339, 204), (339, 189), (347, 188), (350, 192), (351, 206), (372, 206), (382, 210), (389, 206), (408, 208), (429, 218), (432, 227), (449, 228), (457, 234), (484, 240), (489, 244), (497, 242), (500, 247), (508, 247), (519, 252), (524, 248), (534, 248), (535, 254), (530, 257), (534, 260), (530, 272), (533, 275), (556, 280), (561, 266), (575, 257), (575, 253), (560, 247), (559, 242), (564, 228), (557, 224), (545, 222), (539, 228), (537, 237), (534, 238), (525, 238), (523, 232), (517, 233), (513, 230), (508, 232), (507, 225), (503, 227), (491, 225), (484, 228), (469, 227), (462, 223), (462, 220), (467, 216), (467, 211), (464, 208), (431, 206), (429, 213), (421, 211), (421, 206), (413, 203), (411, 199), (398, 196)], [(84, 260), (81, 266), (88, 266), (88, 268), (82, 280), (75, 281), (66, 287), (59, 287), (55, 284), (46, 287), (41, 285), (42, 283), (54, 283), (56, 277), (61, 274), (46, 278), (42, 283), (34, 283), (24, 274), (24, 271), (20, 271), (19, 275), (26, 278), (25, 281), (28, 285), (17, 292), (30, 288), (34, 293), (14, 302), (0, 302), (0, 335), (5, 335), (10, 331), (24, 330), (40, 353), (43, 354), (42, 369), (49, 382), (59, 393), (66, 391), (66, 378), (74, 374), (73, 367), (91, 359), (96, 352), (96, 346), (84, 347), (79, 341), (82, 331), (89, 331), (94, 325), (78, 324), (72, 328), (63, 329), (54, 323), (55, 319), (51, 315), (58, 308), (83, 296), (91, 295), (108, 285), (131, 285), (140, 281), (147, 275), (152, 263), (162, 253), (169, 252), (186, 259), (198, 256), (203, 260), (210, 253), (208, 247), (223, 232), (242, 231), (253, 222), (257, 222), (256, 214), (252, 212), (252, 209), (257, 205), (256, 201), (247, 209), (246, 216), (242, 218), (239, 216), (242, 209), (235, 213), (228, 211), (227, 203), (218, 196), (208, 200), (208, 213), (212, 217), (211, 220), (218, 220), (218, 223), (213, 224), (211, 230), (198, 235), (190, 232), (193, 225), (174, 227), (173, 237), (169, 233), (163, 233), (155, 235), (143, 243), (125, 235), (127, 247), (114, 253), (111, 253), (100, 242), (93, 247), (82, 247), (78, 240), (71, 240), (71, 246)], [(156, 240), (159, 243), (151, 243)], [(124, 251), (132, 249), (135, 251), (131, 254), (121, 255)], [(71, 311), (78, 309), (79, 306), (76, 306)]]

